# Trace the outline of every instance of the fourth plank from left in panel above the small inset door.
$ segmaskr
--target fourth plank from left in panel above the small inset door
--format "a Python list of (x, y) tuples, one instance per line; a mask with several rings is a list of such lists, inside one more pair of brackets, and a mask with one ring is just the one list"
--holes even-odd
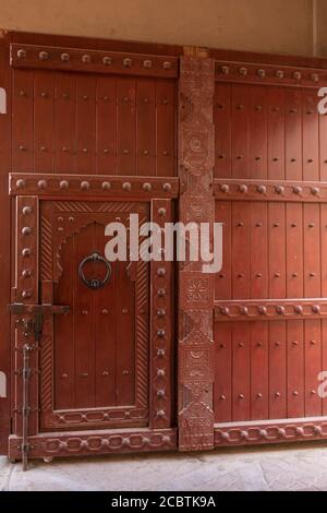
[(95, 92), (96, 79), (76, 77), (77, 171), (94, 175), (95, 168)]

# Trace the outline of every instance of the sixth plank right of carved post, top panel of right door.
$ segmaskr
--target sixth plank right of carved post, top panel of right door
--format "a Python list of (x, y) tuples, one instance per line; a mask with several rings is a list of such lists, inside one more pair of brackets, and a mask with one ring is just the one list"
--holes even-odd
[(319, 180), (319, 114), (315, 90), (302, 90), (303, 180)]

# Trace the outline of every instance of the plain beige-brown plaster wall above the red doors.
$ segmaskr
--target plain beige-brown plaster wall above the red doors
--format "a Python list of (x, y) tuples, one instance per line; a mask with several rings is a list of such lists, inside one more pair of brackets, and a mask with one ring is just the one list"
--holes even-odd
[(1, 0), (0, 26), (25, 32), (312, 55), (314, 1)]

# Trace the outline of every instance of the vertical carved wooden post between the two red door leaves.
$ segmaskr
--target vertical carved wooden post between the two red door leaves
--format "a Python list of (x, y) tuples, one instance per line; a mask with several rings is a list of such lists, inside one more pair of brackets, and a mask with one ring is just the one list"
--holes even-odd
[[(199, 49), (181, 58), (179, 86), (180, 220), (214, 223), (215, 62)], [(214, 448), (214, 275), (180, 263), (179, 448)]]

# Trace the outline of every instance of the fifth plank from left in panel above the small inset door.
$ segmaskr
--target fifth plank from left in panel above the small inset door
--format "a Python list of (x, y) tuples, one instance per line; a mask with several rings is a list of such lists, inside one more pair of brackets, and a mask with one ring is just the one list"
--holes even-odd
[(117, 175), (116, 77), (98, 76), (96, 91), (97, 174)]

